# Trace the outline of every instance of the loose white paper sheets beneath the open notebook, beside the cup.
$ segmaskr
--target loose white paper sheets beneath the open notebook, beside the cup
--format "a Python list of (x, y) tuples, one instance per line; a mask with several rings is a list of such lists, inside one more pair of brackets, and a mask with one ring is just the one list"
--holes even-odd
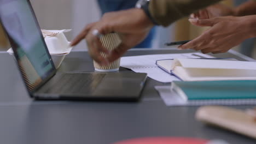
[(159, 82), (172, 82), (179, 80), (177, 77), (166, 73), (164, 70), (158, 68), (155, 62), (159, 59), (171, 58), (212, 58), (210, 55), (205, 55), (200, 52), (193, 53), (175, 53), (163, 55), (142, 55), (121, 57), (121, 67), (131, 69), (136, 73), (147, 73), (148, 77)]

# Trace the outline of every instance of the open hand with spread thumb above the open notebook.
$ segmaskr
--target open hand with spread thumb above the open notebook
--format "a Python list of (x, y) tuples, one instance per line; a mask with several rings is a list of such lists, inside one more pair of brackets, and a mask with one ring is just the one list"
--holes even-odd
[(197, 20), (189, 19), (196, 26), (211, 26), (199, 37), (181, 45), (178, 49), (193, 49), (202, 53), (223, 53), (232, 47), (242, 43), (243, 40), (254, 37), (250, 24), (255, 16), (225, 16), (212, 19)]

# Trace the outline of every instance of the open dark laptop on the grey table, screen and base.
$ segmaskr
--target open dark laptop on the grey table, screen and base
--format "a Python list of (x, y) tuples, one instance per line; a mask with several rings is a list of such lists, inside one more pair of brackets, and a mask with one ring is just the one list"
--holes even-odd
[(147, 74), (59, 73), (28, 0), (0, 0), (0, 21), (22, 79), (38, 100), (139, 100)]

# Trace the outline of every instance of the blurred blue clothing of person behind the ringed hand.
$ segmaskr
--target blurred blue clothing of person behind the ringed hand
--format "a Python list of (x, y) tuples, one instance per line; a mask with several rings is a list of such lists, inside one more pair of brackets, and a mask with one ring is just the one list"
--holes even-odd
[[(134, 8), (138, 0), (97, 0), (98, 5), (101, 8), (101, 14), (118, 11), (124, 9)], [(140, 44), (136, 45), (133, 48), (150, 48), (152, 47), (152, 40), (154, 39), (156, 27), (153, 27), (146, 39), (144, 39)]]

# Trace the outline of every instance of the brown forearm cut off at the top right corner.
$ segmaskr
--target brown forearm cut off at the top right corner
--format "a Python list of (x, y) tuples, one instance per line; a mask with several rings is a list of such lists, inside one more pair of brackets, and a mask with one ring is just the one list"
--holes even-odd
[(248, 1), (234, 9), (235, 16), (255, 15), (256, 1)]

